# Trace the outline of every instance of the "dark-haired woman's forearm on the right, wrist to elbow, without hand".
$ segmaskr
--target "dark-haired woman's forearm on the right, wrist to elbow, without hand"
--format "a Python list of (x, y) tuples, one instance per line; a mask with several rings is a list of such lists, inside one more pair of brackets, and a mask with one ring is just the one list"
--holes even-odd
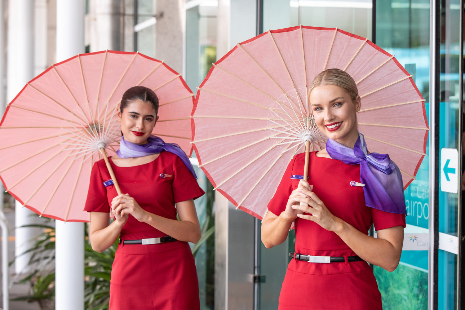
[(167, 236), (171, 236), (179, 241), (196, 243), (201, 236), (199, 225), (190, 221), (178, 221), (147, 212), (143, 222), (155, 227), (159, 231), (163, 231)]

